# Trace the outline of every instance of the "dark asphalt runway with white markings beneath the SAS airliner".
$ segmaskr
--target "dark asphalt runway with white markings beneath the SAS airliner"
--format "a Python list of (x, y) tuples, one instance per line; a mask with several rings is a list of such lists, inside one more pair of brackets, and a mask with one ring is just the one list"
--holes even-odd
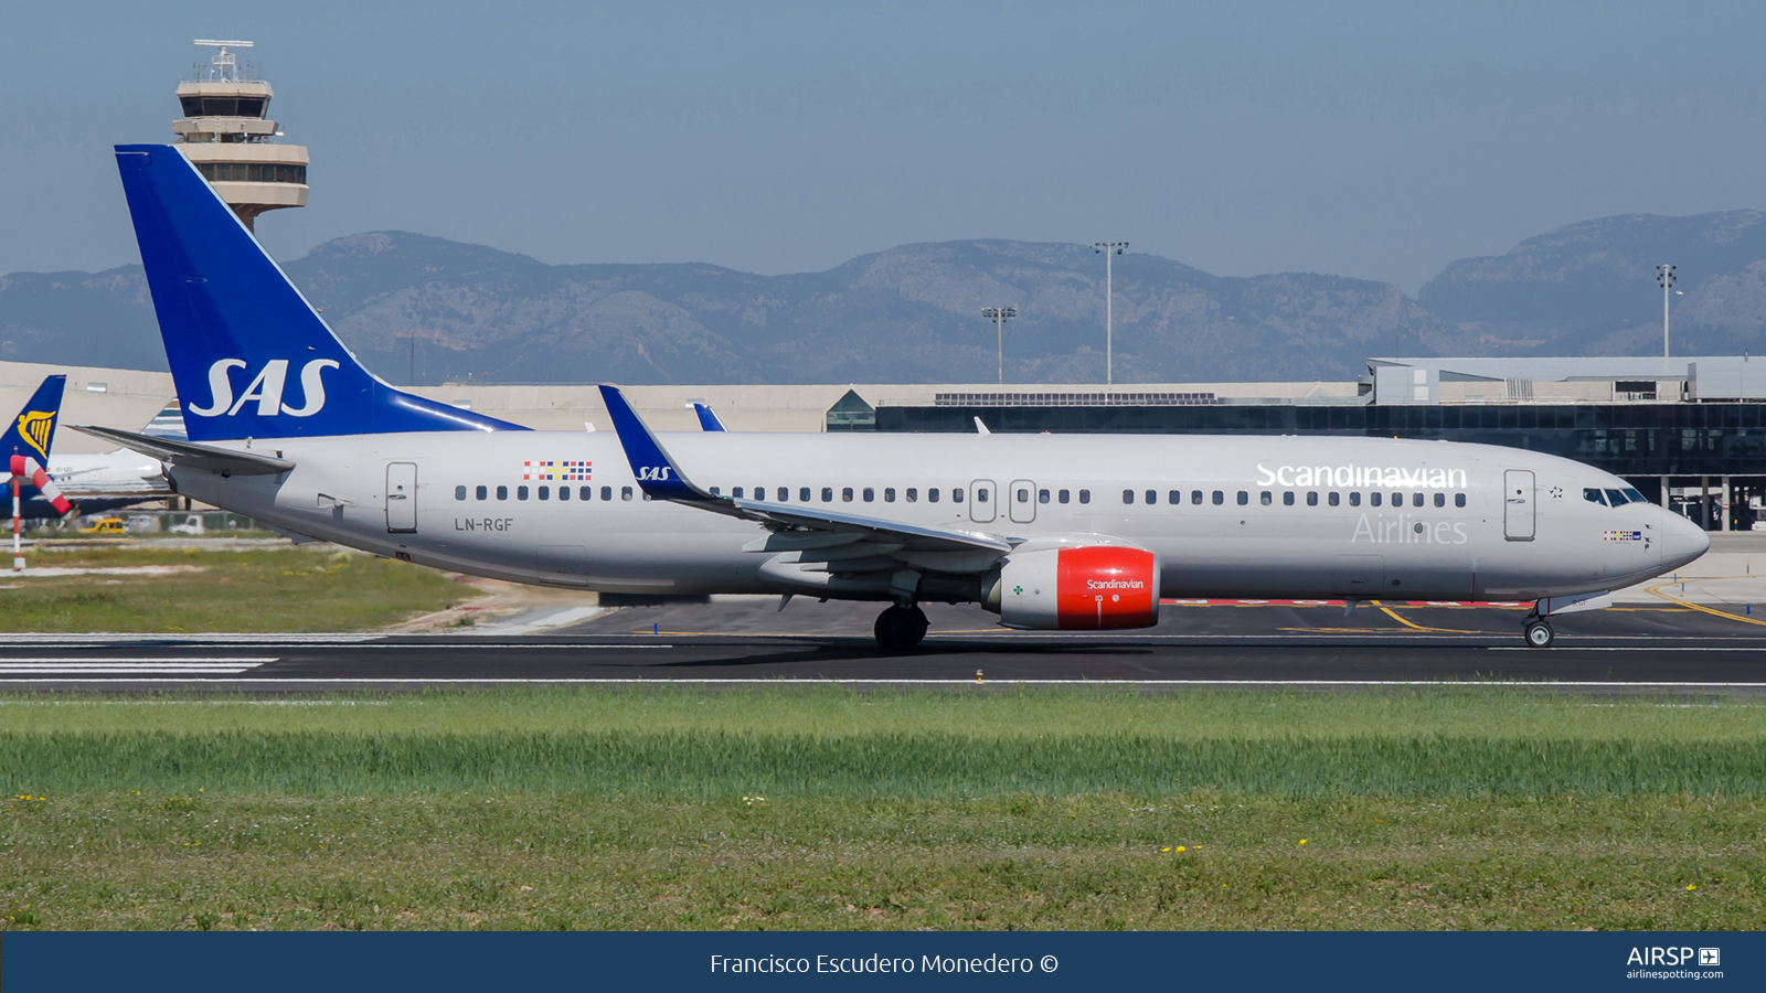
[(1528, 648), (1496, 606), (1167, 604), (1150, 631), (1012, 633), (929, 606), (918, 650), (885, 656), (872, 604), (719, 599), (600, 613), (547, 634), (34, 634), (0, 648), (0, 689), (311, 693), (350, 687), (841, 680), (1356, 686), (1528, 682), (1591, 691), (1766, 693), (1766, 622), (1685, 606), (1556, 618)]

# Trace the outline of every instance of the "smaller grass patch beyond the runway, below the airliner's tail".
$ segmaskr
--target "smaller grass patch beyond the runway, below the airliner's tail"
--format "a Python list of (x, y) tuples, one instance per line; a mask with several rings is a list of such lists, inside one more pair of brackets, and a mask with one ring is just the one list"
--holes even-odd
[[(217, 542), (224, 548), (224, 541)], [(0, 631), (367, 631), (477, 595), (404, 562), (298, 548), (201, 551), (64, 544), (26, 551), (37, 569), (173, 567), (0, 578)]]

